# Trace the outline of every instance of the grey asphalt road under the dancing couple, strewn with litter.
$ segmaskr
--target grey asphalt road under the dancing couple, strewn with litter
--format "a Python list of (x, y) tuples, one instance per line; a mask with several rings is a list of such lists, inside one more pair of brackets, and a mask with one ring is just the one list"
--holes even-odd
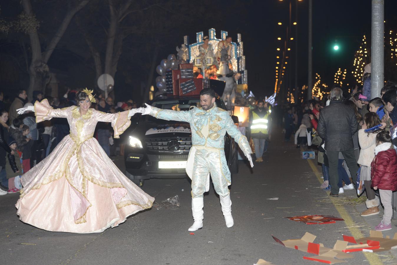
[[(120, 158), (116, 164), (123, 167)], [(314, 168), (320, 169), (316, 165)], [(382, 217), (360, 217), (365, 207), (354, 205), (354, 191), (330, 199), (328, 192), (318, 188), (318, 177), (308, 161), (301, 158), (301, 151), (281, 139), (271, 142), (264, 162), (255, 163), (251, 170), (245, 161), (239, 161), (239, 169), (231, 186), (235, 225), (225, 226), (219, 198), (211, 186), (204, 196), (204, 227), (194, 235), (187, 231), (193, 223), (187, 179), (146, 181), (143, 190), (158, 204), (178, 195), (180, 206), (153, 207), (99, 234), (48, 232), (24, 224), (15, 214), (19, 195), (1, 196), (0, 260), (2, 264), (252, 265), (262, 258), (278, 265), (317, 264), (303, 259), (313, 254), (285, 248), (272, 235), (281, 240), (297, 239), (308, 231), (317, 236), (315, 243), (332, 248), (342, 234), (368, 236), (370, 227)], [(267, 200), (270, 198), (278, 200)], [(333, 215), (347, 221), (306, 225), (283, 218), (311, 214)], [(395, 232), (397, 228), (384, 234), (392, 237)], [(345, 264), (397, 264), (397, 250), (379, 254), (357, 252)]]

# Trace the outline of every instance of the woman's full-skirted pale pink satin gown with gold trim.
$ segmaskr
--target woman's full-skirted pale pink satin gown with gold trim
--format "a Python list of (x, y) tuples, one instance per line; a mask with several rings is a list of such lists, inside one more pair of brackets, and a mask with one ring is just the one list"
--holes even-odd
[(22, 176), (19, 219), (48, 231), (97, 233), (152, 207), (154, 198), (127, 179), (93, 138), (98, 121), (111, 122), (119, 138), (131, 124), (128, 112), (91, 108), (81, 115), (77, 106), (53, 109), (47, 100), (36, 102), (37, 123), (66, 118), (70, 134)]

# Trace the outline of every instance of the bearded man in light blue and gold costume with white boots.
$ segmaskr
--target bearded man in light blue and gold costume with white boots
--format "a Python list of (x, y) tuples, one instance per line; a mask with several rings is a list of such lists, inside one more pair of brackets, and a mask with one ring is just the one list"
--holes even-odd
[(227, 167), (224, 136), (227, 132), (239, 144), (253, 167), (251, 147), (247, 137), (241, 134), (233, 123), (231, 116), (224, 109), (216, 107), (216, 94), (211, 88), (200, 92), (201, 108), (192, 107), (189, 111), (173, 111), (154, 108), (146, 104), (141, 108), (143, 115), (149, 114), (158, 119), (185, 121), (190, 123), (192, 131), (192, 148), (187, 161), (186, 172), (192, 179), (192, 213), (194, 223), (189, 231), (202, 228), (204, 215), (204, 192), (209, 189), (209, 174), (216, 193), (219, 194), (222, 212), (227, 227), (233, 226), (229, 186), (230, 171)]

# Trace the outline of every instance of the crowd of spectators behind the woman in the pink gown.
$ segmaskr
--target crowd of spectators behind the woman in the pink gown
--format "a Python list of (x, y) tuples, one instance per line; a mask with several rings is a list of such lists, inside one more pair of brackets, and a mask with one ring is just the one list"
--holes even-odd
[[(68, 89), (61, 98), (46, 97), (53, 108), (65, 108), (77, 105), (77, 90)], [(19, 115), (16, 109), (33, 106), (44, 95), (33, 91), (33, 100), (29, 102), (25, 90), (19, 90), (17, 97), (10, 101), (0, 92), (0, 195), (19, 192), (22, 188), (20, 177), (50, 154), (59, 142), (69, 134), (66, 119), (53, 118), (36, 123), (35, 113), (25, 112)], [(98, 95), (91, 108), (106, 113), (116, 113), (137, 108), (133, 100), (117, 102), (112, 97)], [(98, 123), (94, 137), (109, 157), (123, 155), (123, 138), (113, 139), (110, 123)]]

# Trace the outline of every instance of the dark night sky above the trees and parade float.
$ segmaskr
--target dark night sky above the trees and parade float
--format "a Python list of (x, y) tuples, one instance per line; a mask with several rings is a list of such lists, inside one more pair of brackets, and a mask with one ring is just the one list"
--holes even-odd
[[(35, 1), (32, 0), (34, 3)], [(40, 2), (40, 1), (39, 1)], [(189, 19), (182, 23), (175, 19), (175, 14), (179, 12), (178, 6), (184, 5), (185, 1), (178, 1), (175, 9), (169, 10), (172, 21), (167, 21), (167, 36), (156, 35), (154, 32), (150, 38), (160, 42), (160, 50), (157, 63), (164, 59), (168, 54), (174, 53), (175, 46), (183, 43), (183, 36), (189, 35), (190, 43), (196, 42), (196, 32), (204, 31), (208, 34), (208, 29), (215, 28), (217, 37), (220, 31), (228, 31), (233, 41), (237, 40), (237, 33), (241, 33), (244, 42), (244, 54), (246, 56), (246, 69), (248, 70), (249, 89), (255, 96), (269, 96), (274, 90), (276, 56), (281, 54), (276, 48), (282, 48), (277, 37), (285, 37), (285, 25), (288, 24), (289, 1), (288, 0), (262, 0), (262, 1), (197, 1), (197, 10), (193, 2), (190, 2), (191, 13)], [(298, 19), (295, 15), (295, 5), (298, 4)], [(1, 17), (8, 17), (21, 11), (21, 6), (17, 1), (0, 0)], [(35, 6), (34, 6), (35, 8)], [(106, 9), (104, 9), (106, 15)], [(385, 20), (386, 26), (396, 25), (395, 1), (385, 1)], [(37, 17), (43, 21), (42, 29), (49, 27), (51, 21), (46, 21), (45, 13), (37, 12)], [(46, 12), (49, 12), (48, 10)], [(166, 11), (165, 11), (166, 12)], [(168, 14), (165, 13), (164, 17)], [(62, 17), (62, 13), (60, 13)], [(177, 17), (177, 16), (176, 16)], [(292, 21), (298, 22), (298, 86), (307, 84), (307, 53), (308, 53), (308, 0), (292, 0)], [(162, 21), (154, 21), (159, 25)], [(283, 25), (277, 25), (282, 22)], [(56, 21), (52, 21), (56, 26)], [(139, 26), (139, 21), (135, 21)], [(106, 27), (106, 19), (103, 21)], [(293, 26), (293, 37), (295, 38), (295, 29)], [(90, 29), (96, 30), (96, 29)], [(99, 29), (98, 29), (99, 30)], [(329, 85), (333, 83), (333, 75), (339, 67), (347, 69), (347, 79), (352, 80), (351, 68), (353, 66), (354, 53), (361, 43), (362, 35), (370, 38), (371, 31), (371, 1), (369, 0), (334, 0), (334, 1), (313, 1), (313, 74), (319, 73), (322, 80)], [(47, 29), (47, 32), (51, 32)], [(29, 46), (29, 38), (17, 34), (0, 34), (0, 56), (19, 53), (15, 48), (16, 39), (24, 39)], [(44, 34), (45, 36), (45, 34)], [(141, 61), (150, 56), (150, 51), (143, 51), (146, 39), (139, 38), (139, 41), (126, 40), (123, 43), (123, 56), (118, 65), (116, 73), (116, 84), (118, 91), (116, 96), (121, 97), (125, 94), (134, 94), (134, 91), (140, 90), (143, 83), (147, 81), (148, 71), (150, 69), (150, 60), (148, 63), (136, 65), (135, 61), (139, 58)], [(44, 38), (43, 38), (44, 39)], [(291, 53), (289, 54), (288, 71), (295, 71), (295, 40), (291, 42)], [(333, 45), (337, 43), (339, 50), (333, 51)], [(103, 52), (103, 51), (102, 51)], [(145, 54), (145, 55), (143, 55)], [(3, 56), (2, 56), (3, 55)], [(141, 57), (142, 58), (141, 58)], [(143, 57), (145, 56), (145, 57)], [(3, 57), (5, 58), (5, 57)], [(94, 72), (90, 64), (90, 54), (77, 31), (76, 23), (72, 21), (62, 38), (53, 57), (48, 62), (50, 69), (62, 69), (63, 75), (68, 75), (68, 86), (93, 86)], [(13, 61), (13, 60), (10, 60)], [(12, 63), (11, 63), (12, 64)], [(67, 67), (66, 67), (67, 65)], [(0, 64), (0, 81), (2, 84), (11, 86), (12, 89), (18, 89), (27, 85), (26, 73), (21, 73), (16, 84), (10, 84), (2, 80), (5, 76), (15, 75), (13, 71), (22, 71), (24, 67), (10, 67), (10, 65)], [(14, 69), (12, 69), (14, 68)], [(8, 73), (10, 72), (10, 73)], [(155, 73), (154, 77), (157, 76)], [(21, 81), (22, 80), (22, 81)], [(73, 80), (73, 81), (71, 81)], [(128, 83), (128, 80), (130, 84)], [(292, 78), (292, 84), (293, 82)], [(352, 83), (352, 82), (350, 82)], [(154, 80), (153, 80), (154, 84)], [(5, 90), (5, 88), (2, 88)]]

